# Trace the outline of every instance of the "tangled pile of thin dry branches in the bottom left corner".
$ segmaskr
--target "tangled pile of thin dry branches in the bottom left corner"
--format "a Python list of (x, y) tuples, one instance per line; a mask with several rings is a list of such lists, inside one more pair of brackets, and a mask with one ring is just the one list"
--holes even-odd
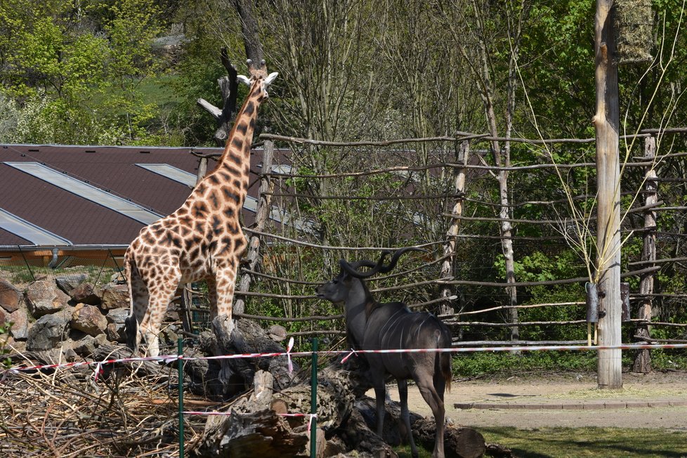
[[(157, 373), (114, 367), (97, 381), (93, 366), (6, 374), (0, 383), (0, 456), (178, 454), (175, 369), (154, 367)], [(192, 396), (187, 402), (209, 404)], [(186, 418), (187, 443), (202, 433), (205, 421)]]

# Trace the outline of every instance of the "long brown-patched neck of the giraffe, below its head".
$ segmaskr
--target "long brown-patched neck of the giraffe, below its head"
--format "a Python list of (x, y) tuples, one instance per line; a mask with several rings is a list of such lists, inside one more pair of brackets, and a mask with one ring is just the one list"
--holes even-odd
[(216, 169), (223, 166), (232, 168), (240, 167), (243, 173), (248, 174), (250, 169), (251, 143), (255, 122), (258, 118), (258, 109), (261, 99), (261, 81), (256, 81), (251, 86), (251, 91), (236, 115), (236, 121), (232, 127), (227, 143), (224, 147)]

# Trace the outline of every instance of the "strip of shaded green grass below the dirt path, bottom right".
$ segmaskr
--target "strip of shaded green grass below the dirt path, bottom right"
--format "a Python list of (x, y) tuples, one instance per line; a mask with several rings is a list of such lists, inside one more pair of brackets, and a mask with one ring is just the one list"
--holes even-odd
[[(667, 458), (687, 457), (687, 433), (622, 428), (479, 428), (487, 443), (508, 447), (521, 458)], [(410, 458), (410, 447), (398, 447)], [(431, 457), (431, 450), (419, 450)], [(449, 456), (447, 454), (447, 456)]]

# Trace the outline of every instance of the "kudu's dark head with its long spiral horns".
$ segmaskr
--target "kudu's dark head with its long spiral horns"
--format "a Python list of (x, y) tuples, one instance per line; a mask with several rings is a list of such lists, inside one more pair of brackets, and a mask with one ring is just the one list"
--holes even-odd
[[(341, 271), (339, 272), (339, 275), (336, 275), (336, 277), (332, 278), (332, 280), (329, 280), (329, 282), (325, 284), (320, 284), (317, 289), (318, 297), (321, 299), (327, 299), (327, 301), (333, 303), (343, 303), (346, 301), (346, 299), (348, 299), (351, 291), (368, 295), (369, 292), (367, 292), (365, 282), (362, 280), (372, 277), (372, 275), (377, 273), (391, 272), (391, 270), (393, 270), (393, 268), (396, 266), (396, 263), (398, 263), (400, 256), (402, 256), (406, 251), (426, 252), (426, 250), (416, 247), (399, 249), (393, 254), (393, 256), (391, 256), (391, 261), (389, 261), (386, 266), (384, 265), (384, 259), (386, 259), (386, 256), (391, 254), (391, 251), (384, 251), (379, 257), (379, 261), (377, 261), (377, 263), (363, 260), (349, 264), (345, 259), (340, 259), (339, 266), (341, 266)], [(360, 268), (362, 267), (367, 267), (369, 270), (361, 272)]]

